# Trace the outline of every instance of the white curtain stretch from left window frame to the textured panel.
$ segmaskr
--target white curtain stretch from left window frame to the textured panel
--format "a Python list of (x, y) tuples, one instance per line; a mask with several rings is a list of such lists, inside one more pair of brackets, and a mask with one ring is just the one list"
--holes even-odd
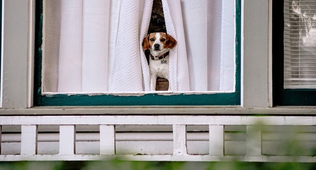
[(109, 1), (44, 2), (44, 92), (107, 91)]

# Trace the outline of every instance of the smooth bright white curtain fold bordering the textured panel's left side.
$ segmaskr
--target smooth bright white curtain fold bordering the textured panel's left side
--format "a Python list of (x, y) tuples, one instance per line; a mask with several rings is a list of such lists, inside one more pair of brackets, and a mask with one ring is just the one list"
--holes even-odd
[(82, 91), (106, 92), (109, 1), (83, 1)]

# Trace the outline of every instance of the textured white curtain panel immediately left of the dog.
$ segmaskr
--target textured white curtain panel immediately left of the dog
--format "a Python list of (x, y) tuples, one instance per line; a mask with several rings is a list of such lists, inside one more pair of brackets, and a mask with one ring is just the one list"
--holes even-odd
[(143, 91), (139, 51), (139, 1), (122, 0), (109, 91)]

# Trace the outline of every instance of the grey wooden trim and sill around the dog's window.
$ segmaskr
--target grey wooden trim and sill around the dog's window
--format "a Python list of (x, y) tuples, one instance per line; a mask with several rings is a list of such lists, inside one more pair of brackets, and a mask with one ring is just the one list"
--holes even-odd
[[(2, 52), (2, 93), (1, 94), (1, 112), (2, 114), (34, 114), (33, 109), (27, 109), (33, 107), (33, 77), (36, 76), (33, 73), (32, 62), (24, 61), (27, 58), (28, 61), (34, 59), (34, 55), (28, 52), (34, 52), (33, 39), (27, 37), (35, 37), (34, 34), (34, 20), (35, 16), (35, 0), (20, 0), (11, 1), (3, 0), (3, 25), (2, 25), (2, 37), (3, 52)], [(203, 106), (192, 107), (192, 114), (198, 114), (199, 110), (204, 110), (201, 113), (261, 113), (256, 109), (247, 108), (267, 108), (272, 104), (272, 62), (271, 62), (271, 7), (272, 0), (255, 0), (245, 1), (241, 0), (241, 106), (232, 106), (233, 109), (226, 110), (222, 106), (211, 106), (214, 109), (208, 109)], [(14, 8), (11, 8), (13, 7)], [(259, 15), (260, 14), (260, 15)], [(13, 16), (12, 16), (13, 15)], [(28, 16), (28, 17), (26, 17)], [(10, 19), (6, 19), (10, 18)], [(15, 27), (17, 23), (20, 23), (19, 27)], [(263, 26), (262, 26), (263, 25)], [(259, 40), (260, 39), (260, 40)], [(260, 42), (259, 42), (260, 41)], [(11, 46), (14, 44), (14, 46)], [(12, 48), (14, 47), (14, 48)], [(16, 49), (19, 49), (18, 51)], [(260, 51), (261, 53), (258, 53)], [(21, 60), (23, 59), (23, 60)], [(148, 106), (150, 107), (150, 106)], [(148, 107), (133, 107), (133, 113), (148, 112)], [(243, 107), (242, 110), (239, 108)], [(98, 107), (87, 109), (87, 107), (78, 106), (71, 107), (76, 109), (63, 109), (67, 107), (53, 107), (57, 108), (58, 112), (54, 112), (50, 108), (52, 107), (34, 107), (36, 110), (43, 108), (39, 111), (41, 114), (60, 114), (63, 111), (70, 111), (71, 113), (89, 114), (89, 112), (102, 112), (106, 114), (110, 113), (122, 113), (122, 107)], [(69, 108), (69, 107), (68, 107)], [(90, 108), (90, 107), (89, 107)], [(107, 111), (107, 108), (109, 111)], [(123, 107), (123, 109), (129, 110), (130, 107)], [(165, 106), (156, 106), (155, 113), (160, 113), (158, 110), (164, 109)], [(178, 108), (178, 109), (176, 109)], [(181, 107), (173, 107), (168, 109), (168, 113), (180, 113)], [(200, 108), (200, 109), (195, 109)], [(203, 109), (205, 108), (205, 109)], [(245, 108), (245, 109), (244, 109)], [(9, 110), (8, 110), (9, 109)], [(13, 110), (12, 110), (13, 109)], [(16, 109), (22, 109), (17, 112)], [(138, 110), (138, 111), (137, 111)], [(180, 109), (181, 110), (181, 109)], [(186, 110), (186, 109), (184, 109)], [(225, 111), (226, 110), (226, 111)], [(274, 109), (273, 109), (274, 110)], [(287, 109), (285, 109), (287, 110)], [(300, 109), (298, 109), (300, 110)], [(227, 112), (228, 111), (228, 112)], [(280, 112), (280, 109), (274, 110)], [(281, 109), (283, 113), (284, 109)], [(299, 111), (304, 112), (305, 110)], [(273, 112), (264, 111), (265, 114)], [(286, 113), (292, 113), (288, 110)], [(294, 111), (298, 113), (297, 110)], [(66, 114), (66, 113), (65, 113)]]

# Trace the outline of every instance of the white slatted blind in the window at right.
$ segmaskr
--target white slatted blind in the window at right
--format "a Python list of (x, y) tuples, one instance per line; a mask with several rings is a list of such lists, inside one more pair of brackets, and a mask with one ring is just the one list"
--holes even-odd
[(284, 0), (284, 89), (316, 89), (316, 1)]

